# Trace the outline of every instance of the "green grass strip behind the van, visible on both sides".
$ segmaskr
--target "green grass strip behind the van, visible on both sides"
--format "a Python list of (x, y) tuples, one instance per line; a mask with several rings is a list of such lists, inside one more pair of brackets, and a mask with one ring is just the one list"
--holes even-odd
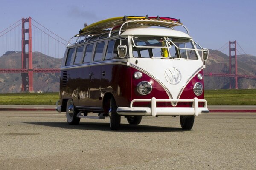
[[(206, 90), (208, 105), (256, 105), (256, 89)], [(0, 105), (55, 105), (59, 93), (0, 94)]]

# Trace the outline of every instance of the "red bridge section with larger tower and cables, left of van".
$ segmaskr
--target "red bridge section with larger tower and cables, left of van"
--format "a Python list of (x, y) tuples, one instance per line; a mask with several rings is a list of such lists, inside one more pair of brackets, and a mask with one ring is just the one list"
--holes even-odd
[[(34, 37), (33, 41), (32, 34)], [(33, 68), (32, 46), (35, 49), (34, 51), (60, 58), (63, 57), (67, 41), (31, 17), (22, 18), (12, 24), (12, 26), (1, 31), (0, 40), (0, 54), (3, 54), (4, 51), (20, 51), (21, 47), (21, 68), (0, 69), (0, 73), (21, 74), (21, 92), (34, 92), (34, 73), (60, 73), (60, 68)]]

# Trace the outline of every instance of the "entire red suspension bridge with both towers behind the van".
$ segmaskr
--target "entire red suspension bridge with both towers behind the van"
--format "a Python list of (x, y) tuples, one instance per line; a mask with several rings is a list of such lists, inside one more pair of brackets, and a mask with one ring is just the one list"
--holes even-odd
[[(54, 34), (31, 17), (22, 18), (0, 32), (0, 54), (4, 54), (6, 51), (21, 51), (21, 68), (0, 68), (0, 73), (20, 73), (21, 92), (34, 92), (34, 73), (60, 73), (60, 68), (33, 68), (32, 47), (33, 51), (55, 58), (62, 58), (66, 45), (66, 40)], [(237, 45), (239, 44), (236, 41), (229, 41), (221, 47), (224, 49), (229, 47), (229, 73), (204, 73), (204, 76), (229, 77), (230, 89), (238, 89), (238, 78), (256, 79), (256, 76), (238, 74)], [(240, 45), (239, 47), (244, 52)], [(244, 54), (246, 53), (244, 52)], [(232, 82), (235, 82), (234, 87)]]

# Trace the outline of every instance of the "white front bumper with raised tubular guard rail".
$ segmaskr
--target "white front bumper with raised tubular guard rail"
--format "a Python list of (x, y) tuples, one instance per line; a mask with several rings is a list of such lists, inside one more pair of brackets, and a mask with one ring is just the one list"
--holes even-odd
[[(151, 102), (149, 107), (133, 107), (134, 102)], [(157, 107), (157, 102), (193, 102), (192, 107)], [(204, 107), (198, 107), (198, 102), (204, 102)], [(118, 107), (119, 115), (141, 115), (141, 116), (179, 116), (179, 115), (195, 115), (209, 113), (207, 101), (204, 99), (134, 99), (131, 101), (130, 107)]]

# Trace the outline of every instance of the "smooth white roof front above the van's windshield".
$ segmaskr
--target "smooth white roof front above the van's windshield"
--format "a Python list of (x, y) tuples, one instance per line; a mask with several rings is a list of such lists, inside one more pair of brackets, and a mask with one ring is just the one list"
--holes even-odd
[(166, 28), (134, 28), (124, 31), (121, 35), (143, 35), (143, 36), (163, 36), (163, 37), (182, 37), (191, 39), (188, 34)]

